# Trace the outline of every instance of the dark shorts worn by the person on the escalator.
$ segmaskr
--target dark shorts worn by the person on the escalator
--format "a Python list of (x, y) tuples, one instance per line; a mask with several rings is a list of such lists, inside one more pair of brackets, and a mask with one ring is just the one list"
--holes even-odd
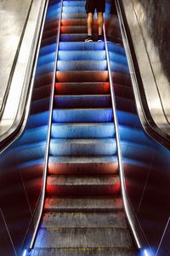
[(94, 11), (98, 13), (105, 13), (105, 0), (86, 0), (86, 13), (94, 14)]

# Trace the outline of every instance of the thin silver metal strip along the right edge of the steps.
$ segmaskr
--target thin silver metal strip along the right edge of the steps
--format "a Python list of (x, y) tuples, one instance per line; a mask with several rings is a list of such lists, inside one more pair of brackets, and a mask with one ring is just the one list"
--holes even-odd
[(110, 89), (111, 89), (111, 102), (112, 102), (112, 111), (113, 111), (113, 120), (115, 124), (115, 135), (116, 135), (116, 148), (117, 148), (117, 158), (118, 158), (118, 166), (119, 166), (119, 172), (120, 172), (120, 179), (121, 179), (121, 188), (122, 188), (122, 201), (124, 210), (127, 216), (128, 224), (133, 232), (133, 237), (136, 241), (136, 245), (139, 249), (142, 249), (146, 246), (146, 241), (144, 239), (143, 234), (141, 233), (137, 220), (134, 217), (132, 207), (129, 204), (129, 201), (127, 200), (127, 193), (125, 189), (125, 174), (122, 166), (122, 150), (120, 145), (120, 135), (118, 131), (118, 120), (116, 117), (116, 100), (115, 100), (115, 92), (113, 90), (113, 80), (111, 77), (111, 65), (110, 65), (110, 57), (109, 57), (109, 51), (106, 43), (106, 33), (105, 33), (105, 24), (103, 26), (104, 31), (104, 38), (105, 38), (105, 53), (106, 53), (106, 61), (107, 61), (107, 67), (108, 67), (108, 73), (109, 73), (109, 82), (110, 82)]

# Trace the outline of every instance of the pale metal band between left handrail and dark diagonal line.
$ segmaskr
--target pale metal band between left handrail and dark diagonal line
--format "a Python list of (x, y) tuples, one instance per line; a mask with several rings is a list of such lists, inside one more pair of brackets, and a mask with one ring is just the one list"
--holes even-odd
[[(41, 0), (34, 0), (31, 5), (26, 31), (20, 44), (17, 60), (15, 60), (13, 76), (10, 78), (11, 83), (7, 102), (0, 120), (1, 142), (19, 125), (26, 104), (27, 91), (31, 79), (31, 67), (37, 50), (38, 30), (41, 27), (43, 5), (44, 3)], [(3, 77), (8, 76), (7, 74), (4, 75), (4, 73), (2, 75)]]

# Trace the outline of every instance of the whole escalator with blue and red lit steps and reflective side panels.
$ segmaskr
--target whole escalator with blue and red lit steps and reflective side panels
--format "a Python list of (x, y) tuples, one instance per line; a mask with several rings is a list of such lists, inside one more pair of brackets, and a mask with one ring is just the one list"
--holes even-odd
[[(160, 237), (162, 233), (169, 237), (164, 230), (169, 212), (164, 206), (170, 154), (141, 125), (116, 15), (114, 30), (109, 31), (111, 3), (106, 1), (105, 11), (110, 41), (84, 43), (85, 1), (48, 2), (26, 127), (0, 157), (0, 221), (5, 219), (15, 249), (7, 251), (8, 234), (1, 236), (4, 256), (152, 255), (149, 247), (153, 255), (168, 255), (168, 242), (161, 246)], [(122, 198), (123, 185), (128, 202)], [(127, 223), (127, 203), (149, 245), (142, 244), (140, 252)], [(31, 241), (33, 233), (37, 236)]]

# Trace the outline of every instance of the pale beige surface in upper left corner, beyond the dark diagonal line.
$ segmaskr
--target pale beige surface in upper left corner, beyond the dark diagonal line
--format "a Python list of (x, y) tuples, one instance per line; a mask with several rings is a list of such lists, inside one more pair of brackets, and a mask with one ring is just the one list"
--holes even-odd
[(31, 0), (0, 0), (0, 108)]

